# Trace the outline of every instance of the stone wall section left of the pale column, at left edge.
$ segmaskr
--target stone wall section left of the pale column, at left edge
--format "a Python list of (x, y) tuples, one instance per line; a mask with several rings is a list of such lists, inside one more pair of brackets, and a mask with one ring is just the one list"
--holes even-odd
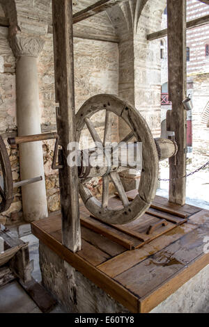
[[(3, 10), (0, 7), (1, 16)], [(0, 134), (4, 137), (7, 132), (16, 132), (16, 93), (15, 93), (15, 57), (8, 44), (8, 29), (0, 27)], [(6, 140), (5, 140), (6, 143)], [(13, 181), (20, 180), (18, 150), (12, 150), (6, 144), (13, 172)], [(0, 215), (0, 223), (20, 221), (22, 198), (20, 189), (14, 189), (14, 200), (10, 209)]]

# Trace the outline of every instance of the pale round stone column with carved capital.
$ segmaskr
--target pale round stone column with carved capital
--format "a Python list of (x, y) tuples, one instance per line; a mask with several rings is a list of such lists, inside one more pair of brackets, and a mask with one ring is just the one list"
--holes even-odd
[[(44, 41), (15, 35), (12, 40), (16, 64), (17, 130), (18, 136), (40, 134), (37, 57)], [(42, 176), (41, 182), (22, 186), (24, 219), (36, 221), (48, 215), (45, 190), (42, 142), (20, 145), (21, 180)]]

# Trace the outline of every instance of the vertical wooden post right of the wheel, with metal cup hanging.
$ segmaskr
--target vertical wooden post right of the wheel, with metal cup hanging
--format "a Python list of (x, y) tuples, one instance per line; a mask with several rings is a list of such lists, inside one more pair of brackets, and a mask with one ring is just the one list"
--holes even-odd
[[(169, 99), (172, 102), (172, 111), (167, 112), (167, 128), (175, 132), (178, 143), (176, 158), (169, 159), (169, 163), (170, 178), (178, 178), (186, 173), (187, 115), (182, 104), (187, 90), (186, 0), (167, 0), (167, 10)], [(169, 201), (185, 204), (185, 191), (185, 178), (171, 181)]]

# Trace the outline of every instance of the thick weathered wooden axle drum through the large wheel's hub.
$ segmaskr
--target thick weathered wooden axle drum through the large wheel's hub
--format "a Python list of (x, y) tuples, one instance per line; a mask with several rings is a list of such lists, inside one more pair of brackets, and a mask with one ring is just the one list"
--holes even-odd
[[(155, 138), (155, 145), (159, 161), (171, 158), (176, 155), (178, 147), (175, 141), (167, 138)], [(142, 145), (143, 146), (143, 145)], [(119, 143), (120, 147), (120, 143)], [(106, 151), (108, 147), (93, 148), (88, 150), (79, 150), (78, 157), (78, 175), (80, 179), (100, 177), (116, 171), (121, 173), (127, 168), (142, 169), (142, 151), (140, 143), (126, 143), (118, 149), (115, 147), (112, 151)], [(115, 149), (117, 149), (116, 152)], [(105, 153), (107, 152), (107, 153)], [(115, 161), (114, 161), (115, 157)], [(118, 163), (116, 163), (118, 161)]]

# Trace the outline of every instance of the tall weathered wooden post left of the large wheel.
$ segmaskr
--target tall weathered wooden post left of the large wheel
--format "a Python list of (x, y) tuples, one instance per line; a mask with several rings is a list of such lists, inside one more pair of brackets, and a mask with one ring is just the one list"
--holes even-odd
[(67, 163), (68, 144), (75, 136), (75, 85), (72, 31), (72, 0), (52, 0), (57, 131), (62, 150), (59, 170), (63, 245), (76, 252), (81, 248), (77, 167)]

